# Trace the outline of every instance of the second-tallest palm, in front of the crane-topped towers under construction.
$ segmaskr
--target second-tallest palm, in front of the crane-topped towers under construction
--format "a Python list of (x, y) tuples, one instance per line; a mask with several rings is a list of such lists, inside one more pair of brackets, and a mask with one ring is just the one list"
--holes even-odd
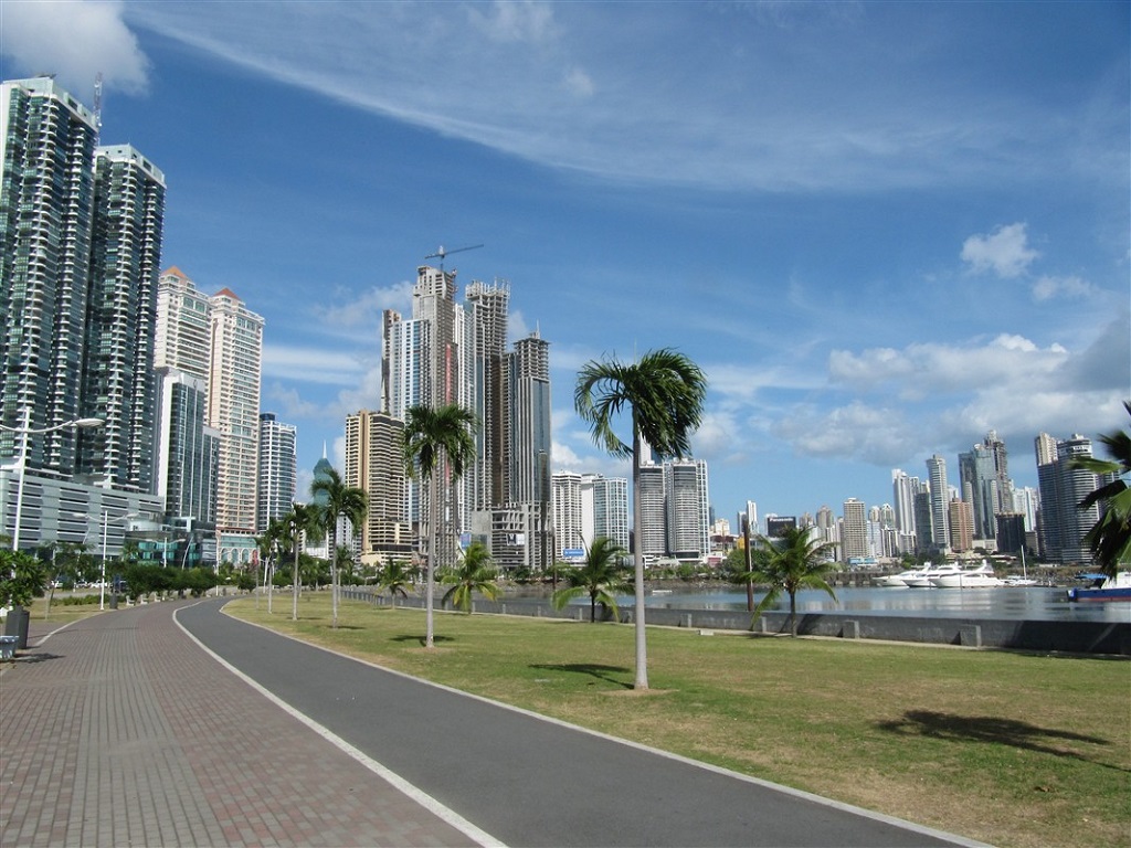
[(405, 473), (413, 478), (422, 477), (429, 488), (425, 648), (431, 648), (434, 639), (432, 596), (440, 544), (440, 477), (446, 475), (451, 486), (464, 475), (464, 469), (475, 458), (474, 431), (477, 427), (475, 414), (458, 404), (448, 404), (437, 409), (411, 406), (402, 433)]

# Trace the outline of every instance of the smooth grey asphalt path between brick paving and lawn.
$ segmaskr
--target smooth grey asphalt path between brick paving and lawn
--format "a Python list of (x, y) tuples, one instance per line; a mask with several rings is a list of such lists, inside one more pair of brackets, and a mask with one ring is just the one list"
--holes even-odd
[(977, 845), (407, 677), (219, 607), (176, 618), (293, 710), (508, 846)]

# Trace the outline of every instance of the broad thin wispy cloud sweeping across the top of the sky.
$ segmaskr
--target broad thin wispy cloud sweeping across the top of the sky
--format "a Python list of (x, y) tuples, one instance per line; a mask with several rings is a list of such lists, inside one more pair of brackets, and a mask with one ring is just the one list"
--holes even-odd
[[(679, 3), (647, 15), (535, 2), (128, 9), (136, 26), (359, 109), (618, 180), (874, 191), (1027, 171), (1048, 145), (1076, 144), (1037, 102), (941, 89), (930, 54), (883, 44), (888, 61), (856, 54), (841, 73), (860, 18), (788, 16), (795, 37), (775, 42), (780, 11)], [(1038, 128), (1024, 147), (1018, 120)]]

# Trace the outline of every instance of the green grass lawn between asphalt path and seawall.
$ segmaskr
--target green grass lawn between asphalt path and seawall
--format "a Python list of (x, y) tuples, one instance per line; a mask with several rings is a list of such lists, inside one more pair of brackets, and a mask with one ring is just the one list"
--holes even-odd
[(326, 594), (226, 607), (388, 668), (1000, 846), (1131, 846), (1131, 663), (700, 635), (442, 613)]

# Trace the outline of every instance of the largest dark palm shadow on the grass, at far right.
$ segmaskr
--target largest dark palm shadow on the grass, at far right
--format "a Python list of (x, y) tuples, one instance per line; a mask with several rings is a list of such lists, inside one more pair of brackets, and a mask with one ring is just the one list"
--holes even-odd
[[(929, 736), (936, 739), (953, 742), (987, 742), (998, 745), (1035, 751), (1042, 754), (1068, 756), (1081, 762), (1091, 762), (1116, 771), (1128, 771), (1119, 765), (1093, 760), (1073, 751), (1069, 745), (1074, 742), (1090, 745), (1111, 745), (1102, 736), (1087, 736), (1072, 730), (1056, 730), (1037, 727), (1027, 721), (999, 716), (956, 716), (951, 712), (933, 712), (931, 710), (908, 710), (904, 717), (893, 721), (879, 721), (881, 730), (901, 734), (904, 736)], [(1061, 742), (1063, 744), (1056, 744)]]

